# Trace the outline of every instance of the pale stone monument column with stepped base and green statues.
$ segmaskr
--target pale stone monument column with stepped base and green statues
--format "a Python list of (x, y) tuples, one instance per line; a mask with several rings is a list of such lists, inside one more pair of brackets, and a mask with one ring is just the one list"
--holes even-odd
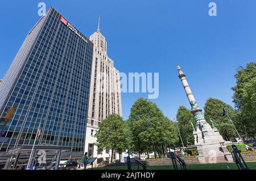
[(177, 65), (177, 70), (191, 105), (191, 112), (196, 120), (196, 130), (193, 135), (195, 136), (195, 145), (199, 151), (198, 158), (200, 163), (233, 162), (232, 154), (226, 148), (225, 141), (218, 129), (215, 127), (213, 129), (205, 120), (203, 111), (196, 103), (196, 99), (188, 85), (186, 75), (179, 65)]

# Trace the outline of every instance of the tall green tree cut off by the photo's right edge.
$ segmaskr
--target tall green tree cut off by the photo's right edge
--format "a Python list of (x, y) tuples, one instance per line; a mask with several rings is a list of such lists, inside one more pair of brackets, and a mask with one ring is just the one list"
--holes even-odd
[(234, 91), (233, 102), (238, 111), (237, 125), (247, 137), (256, 136), (256, 62), (249, 62), (246, 68), (237, 71), (234, 76), (237, 85)]

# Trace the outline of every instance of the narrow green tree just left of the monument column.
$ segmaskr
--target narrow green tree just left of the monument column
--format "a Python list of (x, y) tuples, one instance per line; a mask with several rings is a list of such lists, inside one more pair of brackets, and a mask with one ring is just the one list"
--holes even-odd
[[(180, 106), (177, 111), (177, 126), (180, 129), (181, 138), (183, 140), (184, 146), (195, 144), (195, 137), (193, 136), (193, 129), (191, 123), (196, 125), (196, 121), (191, 113), (191, 110), (188, 110), (184, 106)], [(181, 146), (181, 140), (179, 139), (179, 145)]]

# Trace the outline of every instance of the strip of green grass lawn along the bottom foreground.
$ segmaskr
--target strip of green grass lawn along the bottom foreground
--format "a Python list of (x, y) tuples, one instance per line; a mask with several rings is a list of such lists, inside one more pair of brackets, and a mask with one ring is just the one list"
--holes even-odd
[[(256, 162), (247, 162), (247, 166), (250, 170), (256, 170)], [(188, 170), (228, 170), (228, 166), (232, 170), (238, 170), (235, 163), (218, 163), (218, 164), (194, 164), (187, 165)], [(137, 166), (132, 167), (133, 170), (138, 170)], [(142, 169), (142, 168), (141, 168)], [(101, 167), (94, 170), (127, 170), (127, 167)], [(170, 166), (148, 166), (147, 170), (174, 170), (172, 165)]]

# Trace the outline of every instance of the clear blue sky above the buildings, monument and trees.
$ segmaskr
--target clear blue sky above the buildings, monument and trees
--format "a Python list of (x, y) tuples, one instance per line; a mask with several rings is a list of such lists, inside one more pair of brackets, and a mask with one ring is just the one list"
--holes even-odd
[[(1, 1), (0, 77), (15, 57), (28, 31), (40, 18), (42, 1)], [(101, 32), (108, 41), (108, 55), (124, 73), (159, 73), (159, 98), (153, 100), (170, 119), (177, 108), (189, 108), (177, 77), (176, 64), (203, 108), (209, 97), (231, 104), (240, 65), (256, 58), (255, 0), (85, 1), (55, 0), (55, 7), (89, 37), (101, 15)], [(217, 3), (217, 17), (208, 15), (209, 3)], [(123, 117), (139, 96), (122, 94)]]

